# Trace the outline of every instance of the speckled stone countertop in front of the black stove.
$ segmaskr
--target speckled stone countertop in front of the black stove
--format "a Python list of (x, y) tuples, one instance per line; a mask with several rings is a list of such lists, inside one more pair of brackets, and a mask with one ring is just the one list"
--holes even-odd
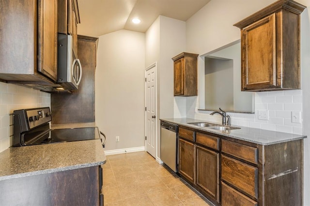
[(0, 180), (106, 163), (100, 139), (10, 147), (0, 153)]

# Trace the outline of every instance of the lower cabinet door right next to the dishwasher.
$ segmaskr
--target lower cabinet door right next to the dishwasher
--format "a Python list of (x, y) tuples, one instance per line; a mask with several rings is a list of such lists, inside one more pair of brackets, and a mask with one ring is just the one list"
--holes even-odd
[(193, 143), (179, 139), (179, 173), (191, 183), (194, 183), (195, 146)]

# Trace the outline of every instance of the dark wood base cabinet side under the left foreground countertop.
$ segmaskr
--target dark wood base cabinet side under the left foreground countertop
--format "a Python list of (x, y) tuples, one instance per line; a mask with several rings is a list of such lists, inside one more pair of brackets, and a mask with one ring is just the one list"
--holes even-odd
[(0, 181), (0, 205), (103, 205), (101, 166)]

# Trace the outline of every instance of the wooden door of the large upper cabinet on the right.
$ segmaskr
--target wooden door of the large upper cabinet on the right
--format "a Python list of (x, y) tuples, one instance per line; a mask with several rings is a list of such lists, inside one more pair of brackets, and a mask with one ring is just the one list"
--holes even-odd
[(277, 87), (276, 15), (242, 29), (242, 90)]

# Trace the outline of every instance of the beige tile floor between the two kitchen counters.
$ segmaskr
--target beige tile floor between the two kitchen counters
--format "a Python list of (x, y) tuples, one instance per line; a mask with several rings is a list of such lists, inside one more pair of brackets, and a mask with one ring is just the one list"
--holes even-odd
[(105, 206), (211, 206), (147, 152), (107, 156), (103, 193)]

